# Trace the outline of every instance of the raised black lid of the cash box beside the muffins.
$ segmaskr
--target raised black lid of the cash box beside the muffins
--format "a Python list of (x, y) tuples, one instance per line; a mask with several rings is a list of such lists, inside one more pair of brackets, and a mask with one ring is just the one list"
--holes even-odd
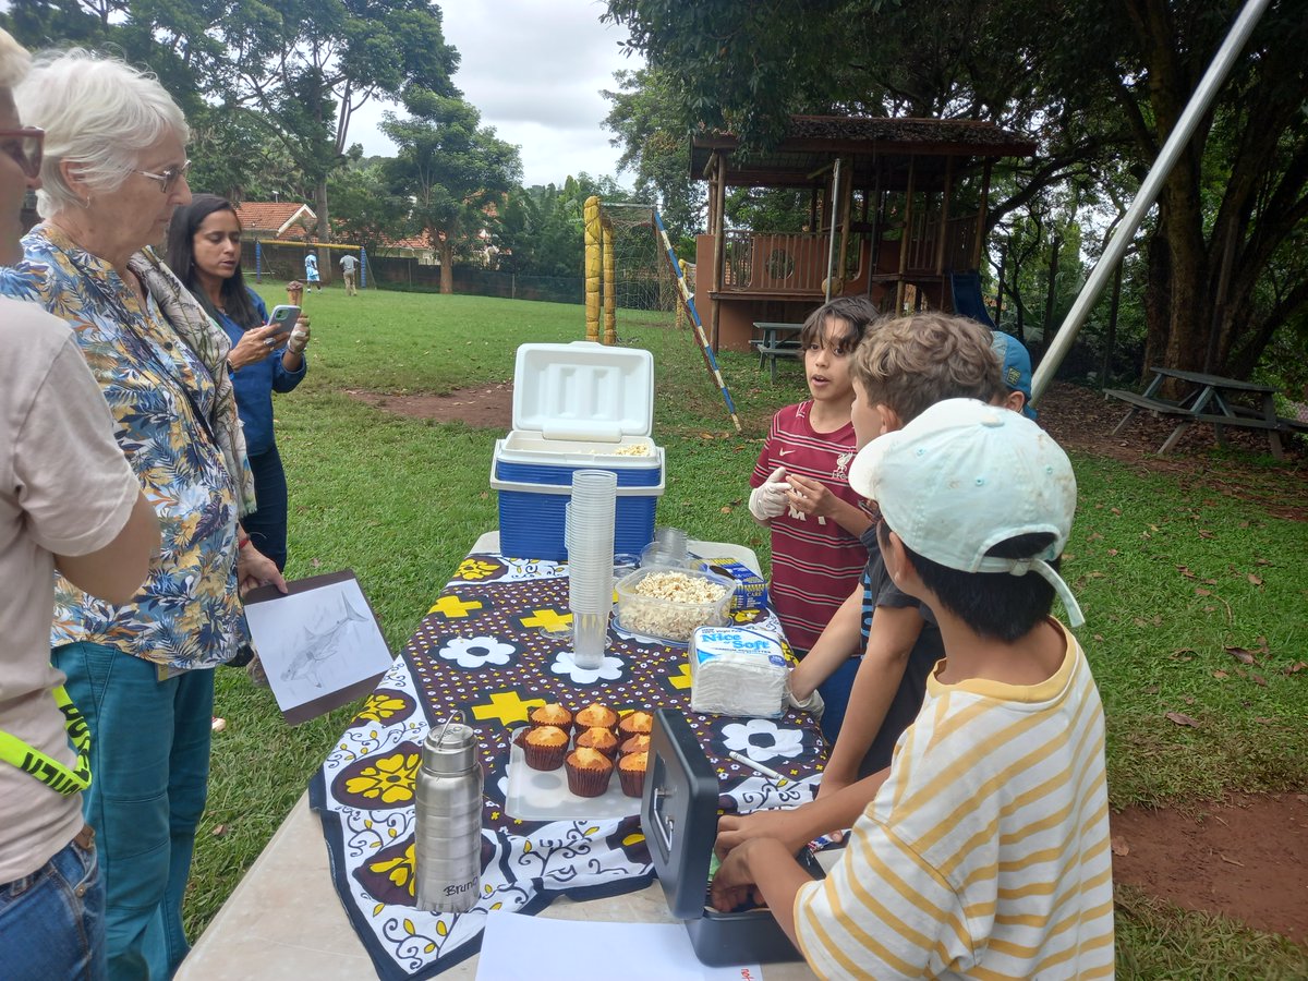
[(668, 909), (698, 920), (709, 886), (709, 858), (718, 833), (718, 774), (685, 717), (655, 709), (650, 732), (641, 829)]

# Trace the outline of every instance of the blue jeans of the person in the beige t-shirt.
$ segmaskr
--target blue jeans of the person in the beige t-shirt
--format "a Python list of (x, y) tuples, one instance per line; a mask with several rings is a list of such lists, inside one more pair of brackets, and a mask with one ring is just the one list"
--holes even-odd
[(0, 974), (12, 981), (103, 981), (105, 883), (77, 842), (0, 886)]

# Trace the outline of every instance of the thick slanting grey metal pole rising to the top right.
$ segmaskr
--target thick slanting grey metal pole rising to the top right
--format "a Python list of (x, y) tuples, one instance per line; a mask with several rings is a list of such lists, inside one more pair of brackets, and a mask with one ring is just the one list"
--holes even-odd
[(1262, 17), (1264, 10), (1267, 9), (1267, 4), (1270, 3), (1271, 0), (1249, 0), (1244, 5), (1244, 9), (1240, 10), (1240, 16), (1236, 17), (1235, 24), (1231, 27), (1231, 33), (1227, 34), (1226, 41), (1222, 42), (1222, 47), (1218, 48), (1218, 54), (1213, 59), (1213, 64), (1210, 64), (1209, 69), (1203, 73), (1199, 86), (1194, 90), (1194, 94), (1190, 95), (1190, 101), (1185, 105), (1181, 118), (1176, 120), (1176, 127), (1167, 137), (1167, 143), (1163, 144), (1163, 150), (1158, 154), (1158, 160), (1154, 161), (1154, 166), (1150, 167), (1148, 175), (1144, 178), (1144, 183), (1141, 184), (1141, 190), (1135, 195), (1135, 200), (1131, 201), (1131, 207), (1126, 211), (1126, 216), (1122, 218), (1122, 224), (1108, 242), (1108, 247), (1099, 258), (1093, 271), (1091, 271), (1090, 279), (1086, 280), (1086, 285), (1082, 286), (1080, 294), (1076, 297), (1076, 302), (1073, 303), (1071, 310), (1067, 311), (1067, 317), (1058, 328), (1058, 334), (1054, 337), (1053, 344), (1050, 344), (1049, 351), (1045, 352), (1045, 357), (1040, 362), (1040, 368), (1036, 369), (1036, 375), (1031, 382), (1031, 400), (1033, 403), (1039, 404), (1040, 396), (1045, 394), (1045, 388), (1048, 388), (1049, 383), (1053, 381), (1054, 373), (1058, 370), (1058, 365), (1062, 364), (1062, 360), (1067, 356), (1067, 349), (1071, 347), (1073, 341), (1076, 340), (1076, 334), (1086, 323), (1086, 318), (1090, 317), (1090, 311), (1095, 307), (1095, 302), (1104, 292), (1104, 286), (1108, 285), (1108, 280), (1112, 277), (1113, 269), (1126, 252), (1126, 247), (1135, 235), (1135, 230), (1141, 226), (1141, 222), (1144, 220), (1144, 215), (1148, 209), (1154, 207), (1154, 201), (1158, 199), (1159, 191), (1163, 190), (1163, 182), (1167, 181), (1167, 175), (1171, 174), (1172, 167), (1176, 166), (1176, 161), (1181, 156), (1181, 150), (1185, 149), (1185, 144), (1188, 144), (1190, 137), (1194, 135), (1194, 128), (1199, 124), (1205, 112), (1209, 111), (1209, 106), (1213, 103), (1218, 90), (1222, 88), (1227, 75), (1231, 72), (1231, 65), (1235, 64), (1235, 59), (1240, 55), (1245, 42), (1249, 39), (1249, 35), (1253, 33), (1253, 29), (1257, 26), (1258, 20)]

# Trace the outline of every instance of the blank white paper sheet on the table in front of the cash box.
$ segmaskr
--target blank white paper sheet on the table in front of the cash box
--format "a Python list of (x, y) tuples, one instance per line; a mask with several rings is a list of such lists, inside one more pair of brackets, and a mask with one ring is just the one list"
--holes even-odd
[(600, 967), (617, 981), (757, 981), (763, 968), (705, 967), (681, 923), (606, 923), (488, 913), (477, 981), (581, 977)]

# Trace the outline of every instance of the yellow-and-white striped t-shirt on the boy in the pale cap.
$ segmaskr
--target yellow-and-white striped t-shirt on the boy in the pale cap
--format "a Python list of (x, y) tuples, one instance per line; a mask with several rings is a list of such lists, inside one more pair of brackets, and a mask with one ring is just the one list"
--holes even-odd
[(927, 681), (845, 854), (795, 897), (819, 976), (1112, 977), (1104, 710), (1050, 623), (1046, 681)]

